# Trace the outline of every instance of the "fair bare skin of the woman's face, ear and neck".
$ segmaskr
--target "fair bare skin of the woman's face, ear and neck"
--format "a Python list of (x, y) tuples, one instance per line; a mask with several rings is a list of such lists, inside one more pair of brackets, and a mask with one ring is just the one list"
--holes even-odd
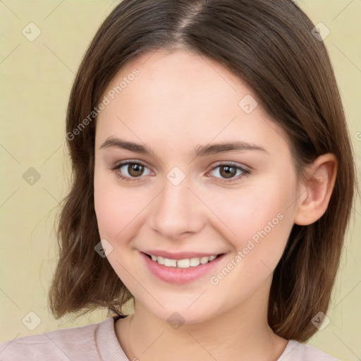
[[(238, 105), (256, 95), (221, 64), (190, 51), (133, 59), (104, 95), (134, 68), (140, 74), (99, 114), (95, 139), (99, 234), (112, 245), (107, 258), (135, 297), (135, 313), (116, 322), (118, 341), (130, 360), (275, 361), (287, 341), (267, 324), (273, 271), (293, 224), (312, 224), (326, 211), (336, 159), (322, 155), (307, 182), (298, 181), (282, 128), (261, 106), (247, 114)], [(153, 152), (101, 148), (109, 137)], [(197, 146), (234, 141), (264, 150), (192, 155)], [(110, 169), (128, 160), (143, 164), (143, 173), (131, 166)], [(222, 183), (229, 162), (250, 174), (234, 171), (235, 181)], [(178, 185), (166, 177), (175, 166), (185, 176)], [(277, 215), (282, 219), (242, 261), (210, 283)], [(140, 255), (147, 249), (226, 255), (211, 274), (179, 285), (148, 271)], [(167, 322), (174, 312), (184, 320), (178, 329)]]

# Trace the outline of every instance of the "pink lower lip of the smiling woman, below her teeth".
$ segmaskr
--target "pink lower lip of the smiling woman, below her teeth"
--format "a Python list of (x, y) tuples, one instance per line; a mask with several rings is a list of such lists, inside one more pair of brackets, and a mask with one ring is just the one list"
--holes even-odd
[(200, 277), (207, 274), (214, 267), (216, 267), (219, 262), (224, 258), (225, 255), (221, 255), (215, 258), (212, 262), (206, 264), (200, 264), (195, 267), (181, 268), (181, 267), (166, 267), (163, 264), (158, 264), (158, 262), (152, 261), (145, 253), (140, 252), (149, 271), (157, 276), (162, 281), (175, 284), (183, 284), (199, 279)]

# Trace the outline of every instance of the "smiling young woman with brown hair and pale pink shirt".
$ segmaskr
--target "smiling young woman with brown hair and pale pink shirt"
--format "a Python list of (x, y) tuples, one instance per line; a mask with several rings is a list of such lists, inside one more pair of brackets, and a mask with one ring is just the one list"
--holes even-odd
[(329, 306), (355, 169), (313, 29), (290, 0), (116, 6), (71, 92), (49, 292), (57, 319), (109, 318), (8, 341), (1, 360), (336, 360), (305, 341)]

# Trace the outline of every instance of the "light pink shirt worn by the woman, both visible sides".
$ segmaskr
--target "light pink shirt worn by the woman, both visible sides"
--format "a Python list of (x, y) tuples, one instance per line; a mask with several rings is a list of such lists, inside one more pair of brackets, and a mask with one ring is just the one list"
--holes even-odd
[[(118, 316), (97, 324), (59, 329), (0, 343), (1, 361), (130, 361), (116, 338)], [(336, 361), (335, 357), (290, 340), (277, 361)]]

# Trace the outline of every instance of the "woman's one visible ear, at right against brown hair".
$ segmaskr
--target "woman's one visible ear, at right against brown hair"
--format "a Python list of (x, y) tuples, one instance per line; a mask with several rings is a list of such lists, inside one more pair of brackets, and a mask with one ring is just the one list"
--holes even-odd
[(295, 224), (307, 226), (323, 216), (334, 190), (337, 168), (337, 159), (331, 153), (323, 154), (307, 167), (307, 180), (299, 186)]

